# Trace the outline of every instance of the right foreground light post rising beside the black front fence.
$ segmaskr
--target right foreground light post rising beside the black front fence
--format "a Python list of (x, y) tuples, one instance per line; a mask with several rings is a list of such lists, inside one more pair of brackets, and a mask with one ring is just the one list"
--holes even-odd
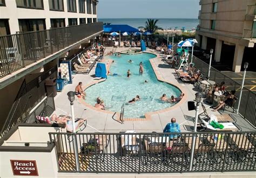
[[(201, 92), (196, 93), (196, 116), (194, 118), (194, 132), (197, 132), (197, 120), (198, 120), (198, 111), (199, 111), (199, 104), (201, 102), (201, 97), (202, 94)], [(192, 170), (193, 166), (193, 158), (194, 158), (194, 147), (196, 146), (196, 139), (197, 139), (197, 134), (193, 134), (193, 139), (192, 139), (192, 149), (191, 149), (191, 156), (190, 156), (190, 167), (189, 169)]]

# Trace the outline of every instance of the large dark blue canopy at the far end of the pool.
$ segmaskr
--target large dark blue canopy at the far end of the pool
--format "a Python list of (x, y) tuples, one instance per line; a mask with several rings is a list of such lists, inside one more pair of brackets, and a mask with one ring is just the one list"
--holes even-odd
[(103, 30), (104, 30), (104, 33), (111, 33), (111, 32), (134, 33), (139, 31), (138, 29), (129, 25), (103, 25)]

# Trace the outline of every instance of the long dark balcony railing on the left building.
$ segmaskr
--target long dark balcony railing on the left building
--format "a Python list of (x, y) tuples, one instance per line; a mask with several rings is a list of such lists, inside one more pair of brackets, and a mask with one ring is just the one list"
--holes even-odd
[(0, 37), (0, 78), (103, 30), (103, 23)]

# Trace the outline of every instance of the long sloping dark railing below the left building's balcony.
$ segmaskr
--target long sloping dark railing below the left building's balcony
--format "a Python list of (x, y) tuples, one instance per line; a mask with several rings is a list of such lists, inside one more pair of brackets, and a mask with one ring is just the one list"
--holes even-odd
[(41, 76), (26, 83), (24, 80), (18, 91), (14, 104), (9, 111), (9, 115), (1, 130), (1, 137), (18, 123), (22, 123), (34, 108), (46, 96), (44, 82), (50, 75), (57, 76), (57, 66), (44, 72)]

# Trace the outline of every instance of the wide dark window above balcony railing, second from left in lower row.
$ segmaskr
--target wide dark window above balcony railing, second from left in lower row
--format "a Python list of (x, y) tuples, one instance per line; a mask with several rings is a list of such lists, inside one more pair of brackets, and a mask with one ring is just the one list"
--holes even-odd
[(19, 31), (30, 32), (46, 30), (45, 19), (18, 19)]

